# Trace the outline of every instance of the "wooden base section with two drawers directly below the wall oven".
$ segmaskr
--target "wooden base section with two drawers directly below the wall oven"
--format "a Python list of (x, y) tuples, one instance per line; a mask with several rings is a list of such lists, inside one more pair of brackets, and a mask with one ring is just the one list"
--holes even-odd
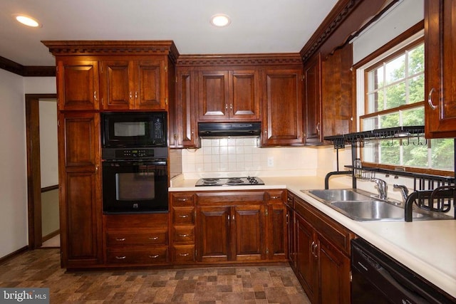
[(167, 219), (168, 214), (105, 215), (105, 266), (169, 263)]

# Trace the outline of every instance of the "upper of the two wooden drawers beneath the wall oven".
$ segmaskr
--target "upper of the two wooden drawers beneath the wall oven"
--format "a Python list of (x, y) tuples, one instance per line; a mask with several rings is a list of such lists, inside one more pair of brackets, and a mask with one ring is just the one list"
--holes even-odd
[(168, 236), (166, 231), (108, 231), (106, 240), (108, 246), (167, 245)]

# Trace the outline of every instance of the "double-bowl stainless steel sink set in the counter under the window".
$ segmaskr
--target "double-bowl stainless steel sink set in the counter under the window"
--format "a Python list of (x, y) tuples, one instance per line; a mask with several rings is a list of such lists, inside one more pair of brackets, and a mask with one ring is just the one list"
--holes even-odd
[[(361, 189), (301, 190), (355, 221), (404, 221), (405, 209), (400, 201), (378, 199)], [(413, 209), (413, 220), (452, 219), (437, 212)]]

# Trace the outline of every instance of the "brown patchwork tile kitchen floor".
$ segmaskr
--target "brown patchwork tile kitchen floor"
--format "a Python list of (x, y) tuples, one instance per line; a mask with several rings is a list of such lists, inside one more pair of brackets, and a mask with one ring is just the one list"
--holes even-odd
[(1, 287), (50, 288), (51, 303), (309, 303), (289, 267), (85, 271), (60, 268), (58, 248), (0, 266)]

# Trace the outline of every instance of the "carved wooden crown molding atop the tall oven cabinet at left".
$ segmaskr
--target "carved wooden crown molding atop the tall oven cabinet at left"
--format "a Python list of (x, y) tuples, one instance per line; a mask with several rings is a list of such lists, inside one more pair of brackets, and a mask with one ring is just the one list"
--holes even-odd
[(177, 61), (179, 51), (171, 40), (155, 41), (41, 41), (54, 55), (167, 55)]

